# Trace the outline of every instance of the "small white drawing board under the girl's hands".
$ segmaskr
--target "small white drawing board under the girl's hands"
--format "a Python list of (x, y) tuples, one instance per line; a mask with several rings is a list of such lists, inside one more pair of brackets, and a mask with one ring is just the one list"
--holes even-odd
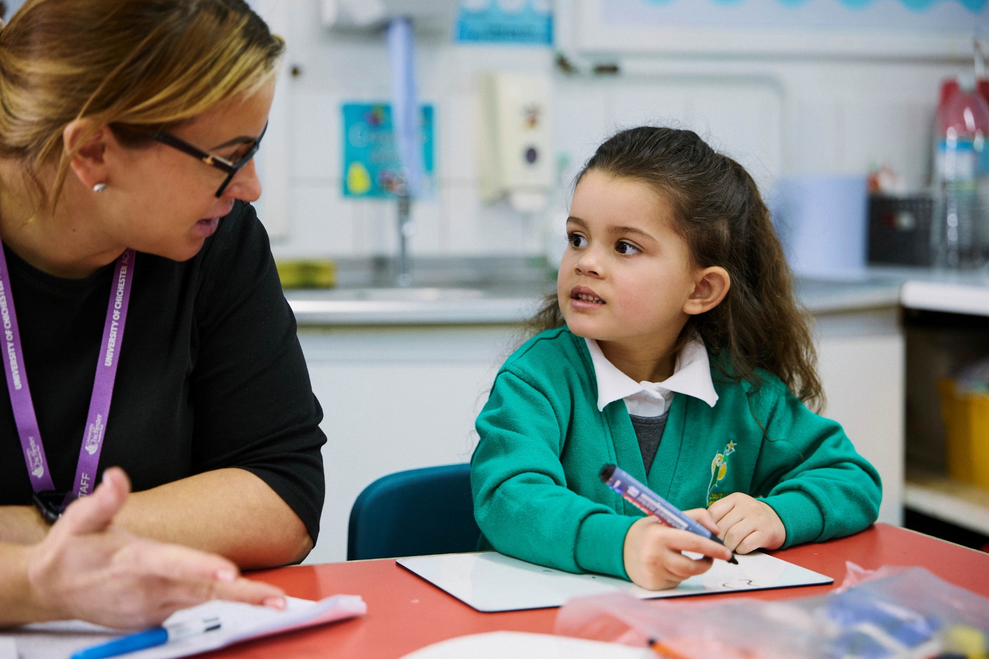
[[(685, 552), (686, 553), (686, 552)], [(693, 555), (697, 557), (699, 554)], [(760, 551), (715, 560), (710, 570), (667, 591), (647, 591), (599, 574), (571, 574), (495, 551), (400, 558), (399, 565), (482, 612), (562, 607), (571, 598), (628, 593), (640, 600), (831, 584), (834, 580)]]

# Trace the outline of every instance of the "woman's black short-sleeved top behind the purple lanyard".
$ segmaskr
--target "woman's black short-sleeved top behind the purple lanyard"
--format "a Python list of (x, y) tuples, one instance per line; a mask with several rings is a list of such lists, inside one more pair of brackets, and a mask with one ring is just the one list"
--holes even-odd
[[(4, 245), (35, 412), (56, 490), (72, 489), (114, 264), (85, 279), (38, 270)], [(0, 506), (31, 483), (0, 376)], [(256, 474), (315, 542), (325, 484), (322, 410), (268, 235), (237, 202), (193, 258), (138, 253), (100, 474), (135, 491), (224, 467)]]

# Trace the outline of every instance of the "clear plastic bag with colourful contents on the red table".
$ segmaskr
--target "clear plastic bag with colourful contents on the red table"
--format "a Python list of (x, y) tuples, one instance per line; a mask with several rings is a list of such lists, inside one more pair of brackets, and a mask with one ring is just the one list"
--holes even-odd
[(848, 564), (828, 595), (764, 602), (572, 600), (556, 632), (672, 659), (989, 659), (989, 600), (923, 568)]

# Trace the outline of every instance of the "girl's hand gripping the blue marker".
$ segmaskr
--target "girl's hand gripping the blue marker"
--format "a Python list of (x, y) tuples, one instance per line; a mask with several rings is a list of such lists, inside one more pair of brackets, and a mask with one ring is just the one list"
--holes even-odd
[[(714, 520), (704, 509), (684, 513), (711, 532), (718, 532)], [(694, 551), (705, 557), (694, 560), (681, 551)], [(639, 519), (625, 534), (625, 572), (632, 583), (646, 590), (674, 588), (688, 577), (707, 572), (714, 562), (709, 556), (728, 560), (732, 552), (713, 540), (671, 528), (652, 516)]]

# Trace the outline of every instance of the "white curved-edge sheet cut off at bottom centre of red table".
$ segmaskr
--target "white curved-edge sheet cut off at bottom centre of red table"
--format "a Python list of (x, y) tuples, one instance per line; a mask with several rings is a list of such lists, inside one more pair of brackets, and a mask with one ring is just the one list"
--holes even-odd
[(402, 659), (649, 659), (652, 650), (617, 643), (525, 631), (458, 636), (406, 654)]

